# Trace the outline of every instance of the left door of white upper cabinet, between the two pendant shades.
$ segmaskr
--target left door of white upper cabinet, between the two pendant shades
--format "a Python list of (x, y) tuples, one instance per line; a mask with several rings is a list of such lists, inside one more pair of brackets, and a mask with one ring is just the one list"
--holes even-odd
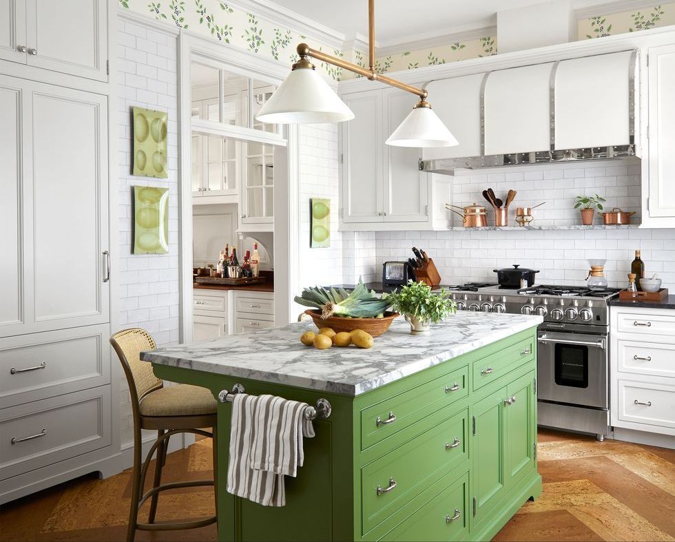
[(382, 92), (346, 94), (342, 99), (356, 116), (342, 125), (342, 220), (381, 222)]

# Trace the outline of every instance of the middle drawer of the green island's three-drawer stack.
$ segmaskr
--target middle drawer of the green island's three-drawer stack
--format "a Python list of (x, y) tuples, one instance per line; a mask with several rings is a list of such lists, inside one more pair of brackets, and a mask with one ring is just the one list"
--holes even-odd
[(363, 534), (468, 456), (468, 409), (361, 469)]

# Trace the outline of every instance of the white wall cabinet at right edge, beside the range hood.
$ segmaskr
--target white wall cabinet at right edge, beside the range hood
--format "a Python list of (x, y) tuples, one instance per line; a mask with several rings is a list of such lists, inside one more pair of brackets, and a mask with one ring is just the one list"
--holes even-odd
[(675, 45), (649, 50), (649, 158), (643, 222), (675, 227)]

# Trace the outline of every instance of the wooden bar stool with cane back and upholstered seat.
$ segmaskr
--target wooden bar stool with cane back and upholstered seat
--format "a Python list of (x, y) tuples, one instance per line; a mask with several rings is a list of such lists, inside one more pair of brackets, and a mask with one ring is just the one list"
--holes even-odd
[[(152, 364), (141, 361), (144, 350), (153, 350), (156, 345), (144, 329), (124, 329), (110, 337), (129, 384), (132, 412), (134, 415), (134, 472), (132, 475), (132, 502), (129, 510), (127, 541), (132, 542), (136, 529), (179, 530), (204, 527), (216, 522), (216, 516), (194, 521), (155, 523), (159, 492), (191, 486), (214, 486), (216, 479), (216, 399), (207, 388), (178, 384), (164, 387), (163, 382), (152, 372)], [(211, 428), (207, 432), (198, 428)], [(157, 439), (142, 460), (141, 429), (157, 431)], [(214, 446), (214, 480), (184, 481), (161, 484), (162, 468), (166, 462), (169, 438), (182, 432), (211, 437)], [(154, 483), (143, 494), (145, 475), (154, 452), (157, 452)], [(138, 510), (151, 499), (147, 523), (138, 523)]]

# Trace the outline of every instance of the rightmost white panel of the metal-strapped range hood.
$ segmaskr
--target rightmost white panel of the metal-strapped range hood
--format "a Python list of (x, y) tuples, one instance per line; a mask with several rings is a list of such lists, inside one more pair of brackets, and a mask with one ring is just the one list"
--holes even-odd
[[(633, 51), (561, 61), (555, 72), (555, 148), (628, 145)], [(634, 94), (632, 94), (634, 97)], [(530, 149), (536, 150), (536, 149)]]

